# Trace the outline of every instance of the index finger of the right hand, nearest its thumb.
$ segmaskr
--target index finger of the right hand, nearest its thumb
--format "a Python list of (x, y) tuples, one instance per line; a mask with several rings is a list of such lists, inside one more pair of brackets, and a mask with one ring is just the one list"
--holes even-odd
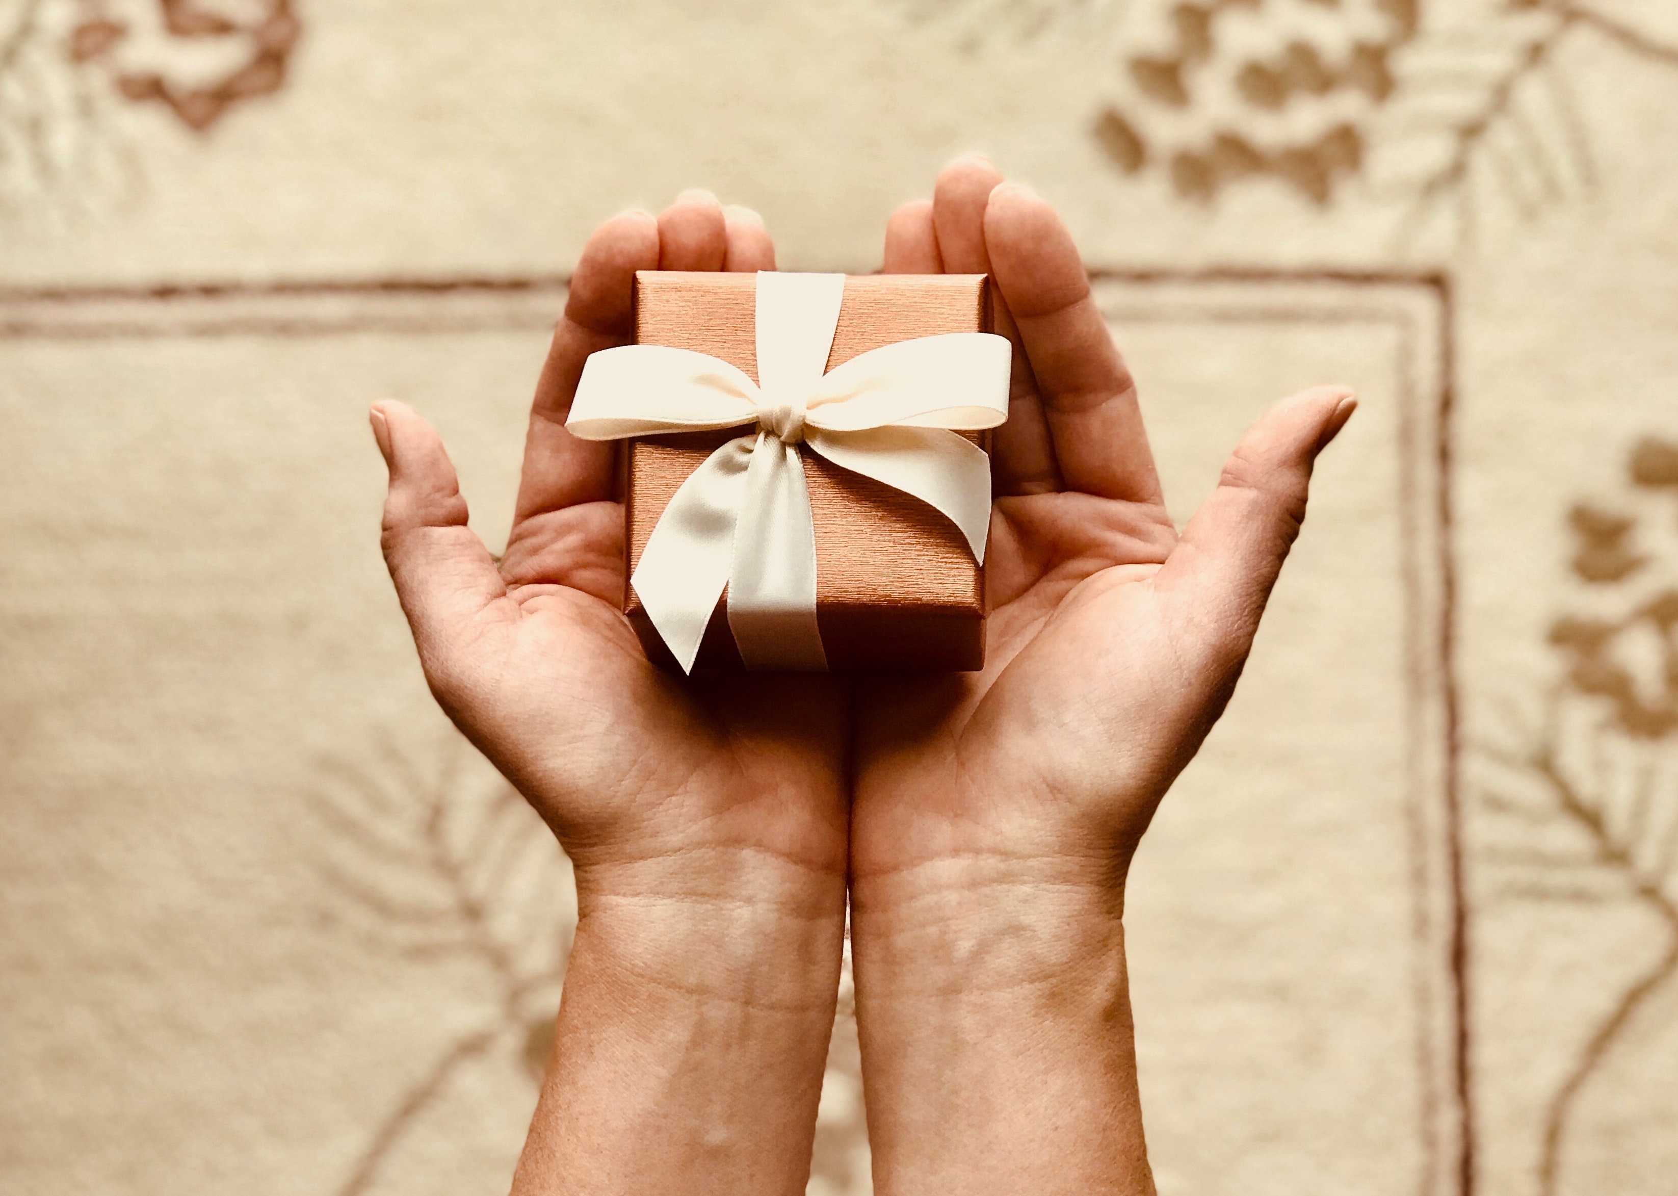
[(1066, 225), (1035, 191), (1005, 183), (985, 208), (985, 243), (1032, 364), (1064, 485), (1159, 502), (1136, 382)]

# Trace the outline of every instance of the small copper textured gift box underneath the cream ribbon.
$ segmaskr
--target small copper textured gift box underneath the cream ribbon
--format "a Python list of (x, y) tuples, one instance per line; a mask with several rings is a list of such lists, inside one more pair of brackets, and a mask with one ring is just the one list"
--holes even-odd
[[(755, 277), (641, 270), (636, 344), (693, 349), (757, 379)], [(990, 332), (987, 275), (852, 275), (827, 369), (879, 346)], [(676, 488), (742, 429), (638, 436), (623, 455), (629, 574)], [(990, 433), (961, 433), (987, 453)], [(800, 446), (816, 525), (816, 619), (831, 671), (972, 671), (985, 663), (985, 575), (960, 528), (921, 500)], [(740, 669), (727, 595), (705, 629), (698, 669)], [(648, 656), (670, 651), (626, 585), (624, 612)]]

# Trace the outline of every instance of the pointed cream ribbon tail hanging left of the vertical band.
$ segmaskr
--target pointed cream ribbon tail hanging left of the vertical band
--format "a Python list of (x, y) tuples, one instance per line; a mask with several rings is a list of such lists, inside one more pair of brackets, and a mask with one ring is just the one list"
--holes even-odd
[(683, 673), (728, 585), (735, 525), (747, 497), (752, 438), (728, 441), (688, 475), (648, 537), (629, 584)]

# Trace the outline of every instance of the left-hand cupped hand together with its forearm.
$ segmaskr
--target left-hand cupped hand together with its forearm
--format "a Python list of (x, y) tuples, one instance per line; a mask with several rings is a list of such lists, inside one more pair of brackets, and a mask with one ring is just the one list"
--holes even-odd
[(633, 339), (636, 270), (774, 268), (762, 221), (683, 193), (589, 240), (537, 386), (507, 552), (436, 433), (374, 404), (384, 555), (426, 681), (576, 866), (577, 933), (519, 1196), (802, 1193), (846, 909), (847, 694), (673, 678), (621, 614), (611, 445), (564, 423)]

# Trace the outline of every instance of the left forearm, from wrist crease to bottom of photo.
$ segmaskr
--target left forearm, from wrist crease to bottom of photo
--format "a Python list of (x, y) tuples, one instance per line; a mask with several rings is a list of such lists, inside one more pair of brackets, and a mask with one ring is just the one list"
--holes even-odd
[(555, 1047), (515, 1196), (802, 1193), (844, 877), (765, 855), (579, 876)]

